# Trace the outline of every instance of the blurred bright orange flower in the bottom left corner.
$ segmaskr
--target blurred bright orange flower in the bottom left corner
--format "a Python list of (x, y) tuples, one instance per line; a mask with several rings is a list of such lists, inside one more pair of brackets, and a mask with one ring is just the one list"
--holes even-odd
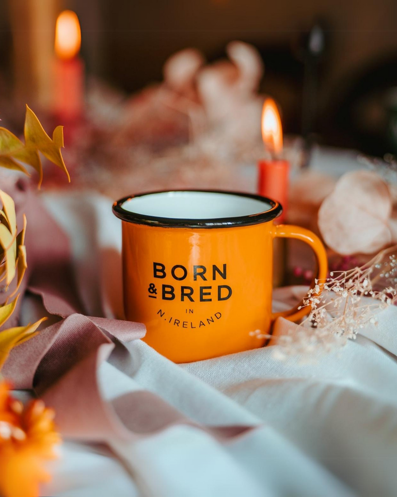
[(34, 400), (25, 409), (0, 382), (0, 495), (37, 497), (39, 484), (50, 478), (43, 463), (56, 457), (61, 441), (54, 429), (54, 411)]

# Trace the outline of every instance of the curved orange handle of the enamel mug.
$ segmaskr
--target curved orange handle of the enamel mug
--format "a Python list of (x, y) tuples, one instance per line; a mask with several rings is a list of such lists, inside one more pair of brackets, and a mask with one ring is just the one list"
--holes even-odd
[[(273, 238), (295, 238), (296, 240), (301, 240), (302, 242), (310, 245), (317, 257), (317, 276), (315, 278), (317, 278), (319, 281), (325, 280), (325, 278), (327, 278), (327, 252), (319, 237), (313, 232), (300, 226), (278, 224), (274, 225)], [(313, 278), (310, 288), (314, 287), (315, 278)], [(319, 293), (321, 293), (322, 289), (323, 287), (322, 285), (320, 285)], [(301, 309), (298, 309), (298, 307), (300, 307), (301, 305), (302, 302), (297, 304), (292, 309), (289, 309), (288, 311), (272, 313), (271, 319), (275, 320), (276, 318), (285, 318), (288, 321), (298, 321), (309, 314), (311, 309), (310, 306), (305, 306)]]

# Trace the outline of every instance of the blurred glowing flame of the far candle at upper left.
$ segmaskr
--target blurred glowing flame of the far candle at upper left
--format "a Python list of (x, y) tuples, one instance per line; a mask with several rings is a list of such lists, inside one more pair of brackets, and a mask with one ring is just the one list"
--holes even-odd
[(80, 50), (81, 31), (77, 15), (64, 10), (57, 19), (55, 27), (55, 53), (61, 59), (72, 59)]

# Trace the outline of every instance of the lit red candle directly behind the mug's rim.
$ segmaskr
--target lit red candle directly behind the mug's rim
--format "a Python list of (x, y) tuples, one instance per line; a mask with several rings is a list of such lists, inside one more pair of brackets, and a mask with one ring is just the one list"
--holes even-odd
[(266, 98), (262, 111), (262, 138), (271, 154), (270, 160), (258, 163), (258, 193), (282, 205), (283, 212), (276, 222), (282, 223), (288, 209), (289, 162), (282, 159), (282, 127), (277, 106)]

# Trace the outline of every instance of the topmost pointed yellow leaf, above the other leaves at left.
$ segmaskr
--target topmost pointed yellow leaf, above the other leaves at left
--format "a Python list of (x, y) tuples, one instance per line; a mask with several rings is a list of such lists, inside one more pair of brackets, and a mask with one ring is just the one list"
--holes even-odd
[(61, 169), (65, 171), (67, 179), (70, 182), (70, 176), (61, 154), (61, 148), (64, 147), (63, 126), (57, 126), (55, 128), (53, 139), (51, 140), (44, 131), (36, 114), (26, 105), (24, 134), (26, 147), (29, 149), (38, 149), (49, 161), (56, 166), (61, 167)]

